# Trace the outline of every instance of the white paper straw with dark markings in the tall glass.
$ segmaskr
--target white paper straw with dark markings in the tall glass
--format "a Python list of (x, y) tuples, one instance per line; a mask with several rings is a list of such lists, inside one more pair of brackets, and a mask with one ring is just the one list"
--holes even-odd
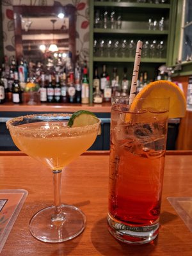
[(140, 40), (137, 43), (136, 54), (134, 58), (134, 68), (132, 72), (132, 81), (131, 81), (131, 90), (129, 95), (129, 104), (132, 103), (134, 97), (136, 96), (136, 87), (138, 82), (138, 74), (140, 71), (140, 62), (141, 62), (141, 50), (142, 50), (143, 42)]

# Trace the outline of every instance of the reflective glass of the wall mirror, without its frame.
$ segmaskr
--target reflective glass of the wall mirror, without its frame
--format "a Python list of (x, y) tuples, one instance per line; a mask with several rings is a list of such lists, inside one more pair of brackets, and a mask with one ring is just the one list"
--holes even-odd
[[(68, 18), (22, 17), (22, 46), (26, 58), (43, 60), (45, 52), (69, 51)], [(56, 49), (52, 48), (56, 45)]]

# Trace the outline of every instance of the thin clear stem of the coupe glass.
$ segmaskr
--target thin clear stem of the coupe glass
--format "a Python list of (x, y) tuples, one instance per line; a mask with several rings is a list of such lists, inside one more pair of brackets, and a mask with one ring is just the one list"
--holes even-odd
[(65, 214), (61, 211), (61, 173), (62, 170), (53, 170), (53, 189), (54, 189), (54, 214), (52, 221), (63, 221)]

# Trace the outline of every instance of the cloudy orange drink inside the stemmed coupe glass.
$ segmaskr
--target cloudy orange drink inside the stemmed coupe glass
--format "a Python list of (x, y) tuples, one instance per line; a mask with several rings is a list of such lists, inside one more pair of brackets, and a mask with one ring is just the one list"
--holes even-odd
[[(67, 121), (36, 122), (22, 124), (19, 127), (26, 131), (12, 133), (15, 145), (28, 156), (35, 157), (48, 165), (52, 170), (60, 170), (72, 159), (80, 156), (93, 144), (97, 136), (94, 130), (82, 132), (78, 136), (75, 133), (69, 136)], [(34, 132), (31, 133), (31, 130)]]

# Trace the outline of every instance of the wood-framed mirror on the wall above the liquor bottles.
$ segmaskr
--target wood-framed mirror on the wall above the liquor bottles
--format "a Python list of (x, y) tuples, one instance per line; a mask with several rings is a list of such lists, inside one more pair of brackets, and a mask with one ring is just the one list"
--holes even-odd
[(13, 13), (17, 61), (26, 58), (35, 63), (44, 62), (55, 52), (71, 52), (72, 61), (75, 61), (74, 6), (13, 6)]

